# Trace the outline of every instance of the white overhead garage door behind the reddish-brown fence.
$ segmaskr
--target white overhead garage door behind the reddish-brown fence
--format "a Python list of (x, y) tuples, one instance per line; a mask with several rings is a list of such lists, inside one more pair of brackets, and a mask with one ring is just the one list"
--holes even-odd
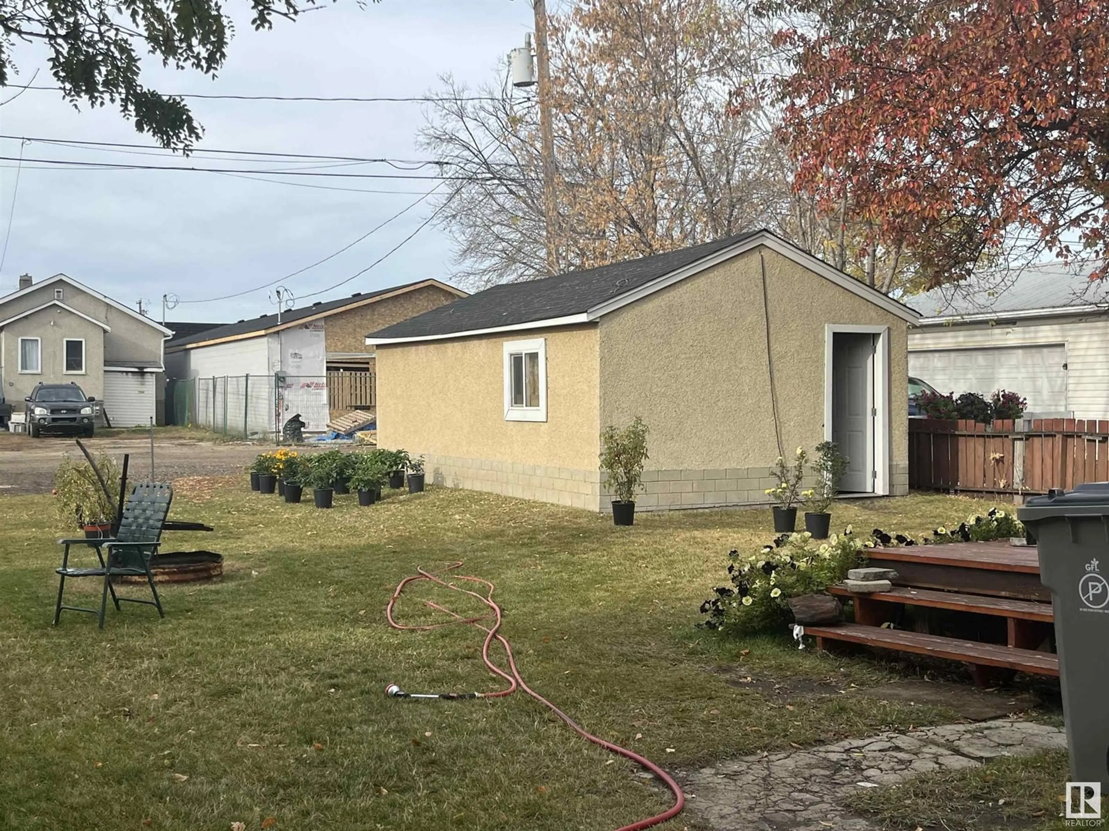
[(1051, 346), (989, 349), (936, 349), (908, 353), (908, 373), (939, 392), (980, 392), (997, 389), (1028, 399), (1030, 412), (1067, 409), (1067, 350)]

